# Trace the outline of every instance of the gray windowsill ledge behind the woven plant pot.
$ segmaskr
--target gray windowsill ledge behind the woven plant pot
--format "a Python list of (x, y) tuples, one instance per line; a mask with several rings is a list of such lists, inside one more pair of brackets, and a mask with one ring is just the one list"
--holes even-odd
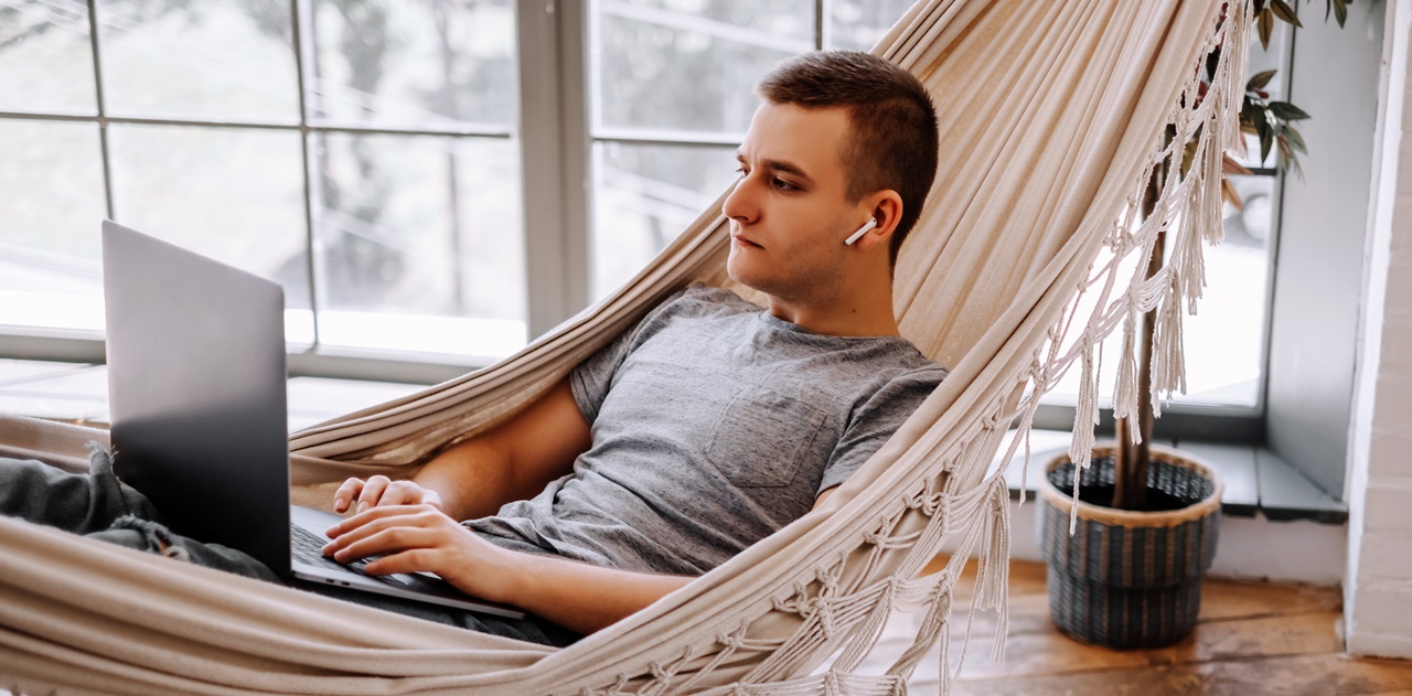
[[(1014, 431), (1011, 431), (1012, 435)], [(1019, 498), (1021, 481), (1024, 481), (1027, 497), (1034, 498), (1039, 491), (1045, 464), (1055, 455), (1066, 452), (1069, 442), (1070, 433), (1067, 431), (1032, 431), (1028, 470), (1024, 467), (1024, 445), (1005, 469), (1011, 498)], [(1224, 483), (1221, 512), (1226, 515), (1255, 517), (1258, 512), (1279, 522), (1305, 520), (1336, 525), (1348, 520), (1348, 505), (1319, 490), (1295, 467), (1262, 445), (1162, 438), (1155, 439), (1155, 442), (1182, 449), (1220, 472)], [(1001, 445), (997, 462), (1005, 456), (1008, 446), (1010, 436)]]

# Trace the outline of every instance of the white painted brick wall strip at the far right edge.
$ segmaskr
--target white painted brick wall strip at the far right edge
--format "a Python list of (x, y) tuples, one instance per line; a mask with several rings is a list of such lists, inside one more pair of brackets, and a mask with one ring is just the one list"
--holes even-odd
[(1348, 432), (1347, 648), (1412, 656), (1412, 0), (1388, 0)]

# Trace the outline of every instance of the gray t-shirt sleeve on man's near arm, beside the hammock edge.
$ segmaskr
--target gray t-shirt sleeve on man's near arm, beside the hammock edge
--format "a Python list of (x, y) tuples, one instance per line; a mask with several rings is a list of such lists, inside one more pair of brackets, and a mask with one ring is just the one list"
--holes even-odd
[(945, 377), (946, 368), (931, 364), (902, 373), (874, 392), (853, 414), (843, 438), (833, 449), (833, 456), (819, 481), (819, 493), (849, 480), (868, 457), (882, 449), (888, 438), (922, 405), (922, 401), (926, 401)]

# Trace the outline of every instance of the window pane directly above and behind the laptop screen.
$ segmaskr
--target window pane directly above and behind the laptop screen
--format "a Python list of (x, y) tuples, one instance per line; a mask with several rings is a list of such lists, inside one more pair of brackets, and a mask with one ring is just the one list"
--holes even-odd
[[(298, 133), (113, 124), (109, 151), (117, 222), (278, 282), (287, 308), (309, 306)], [(312, 330), (298, 316), (289, 340)]]

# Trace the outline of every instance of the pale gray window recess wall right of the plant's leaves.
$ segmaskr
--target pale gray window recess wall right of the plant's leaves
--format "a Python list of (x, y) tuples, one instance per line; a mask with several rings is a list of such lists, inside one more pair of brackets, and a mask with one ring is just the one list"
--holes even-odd
[[(1395, 1), (1395, 0), (1394, 0)], [(1299, 4), (1289, 100), (1309, 154), (1288, 174), (1275, 253), (1267, 374), (1267, 445), (1347, 501), (1348, 418), (1357, 361), (1358, 291), (1368, 229), (1370, 167), (1378, 112), (1385, 7), (1348, 6), (1324, 21), (1323, 0)], [(1281, 76), (1276, 79), (1282, 79)]]

